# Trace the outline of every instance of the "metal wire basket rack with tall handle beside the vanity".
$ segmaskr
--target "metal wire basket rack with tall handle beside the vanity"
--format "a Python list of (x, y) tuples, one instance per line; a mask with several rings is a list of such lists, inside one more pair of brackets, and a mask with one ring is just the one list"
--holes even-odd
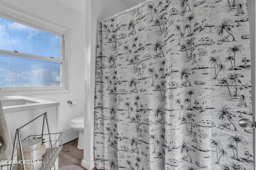
[[(29, 123), (31, 123), (32, 121), (38, 119), (39, 117), (44, 116), (43, 119), (43, 127), (42, 127), (42, 134), (40, 135), (30, 135), (28, 137), (26, 137), (25, 139), (21, 140), (21, 132), (20, 129), (22, 129), (23, 127), (25, 127), (26, 125), (28, 125)], [(47, 130), (48, 133), (44, 134), (44, 127), (45, 124), (47, 125)], [(34, 118), (33, 120), (29, 121), (28, 123), (22, 125), (21, 127), (19, 127), (18, 129), (16, 129), (16, 134), (15, 134), (15, 138), (14, 138), (14, 145), (13, 145), (13, 151), (12, 151), (12, 159), (8, 162), (7, 164), (0, 164), (0, 170), (20, 170), (20, 167), (18, 168), (18, 164), (16, 163), (17, 161), (15, 160), (15, 157), (17, 156), (16, 153), (16, 147), (19, 144), (20, 146), (20, 156), (21, 156), (21, 160), (24, 162), (24, 154), (22, 151), (22, 142), (29, 140), (29, 139), (33, 139), (33, 138), (40, 138), (40, 139), (45, 139), (44, 140), (44, 145), (46, 146), (46, 152), (44, 155), (42, 155), (42, 159), (40, 160), (33, 160), (33, 162), (40, 162), (40, 164), (42, 164), (42, 166), (40, 168), (32, 168), (32, 170), (50, 170), (52, 169), (52, 167), (54, 167), (54, 170), (56, 170), (55, 167), (55, 161), (58, 158), (58, 154), (60, 153), (63, 144), (62, 144), (62, 133), (50, 133), (50, 128), (49, 128), (49, 124), (48, 124), (48, 118), (47, 118), (47, 113), (43, 113), (41, 115), (39, 115), (38, 117)], [(18, 144), (17, 144), (17, 140), (18, 140)], [(22, 164), (22, 169), (21, 170), (26, 170), (25, 168), (25, 164)]]

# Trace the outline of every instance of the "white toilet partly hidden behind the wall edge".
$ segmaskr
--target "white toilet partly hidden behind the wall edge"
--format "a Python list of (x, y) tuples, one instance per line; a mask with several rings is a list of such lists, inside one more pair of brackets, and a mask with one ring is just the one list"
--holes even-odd
[(84, 116), (76, 117), (70, 121), (69, 126), (76, 131), (79, 131), (78, 149), (84, 149)]

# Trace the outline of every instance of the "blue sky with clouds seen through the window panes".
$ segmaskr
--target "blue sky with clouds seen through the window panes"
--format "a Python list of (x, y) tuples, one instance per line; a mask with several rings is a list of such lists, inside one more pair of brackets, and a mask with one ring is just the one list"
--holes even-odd
[[(60, 37), (0, 18), (0, 49), (60, 59)], [(0, 55), (0, 87), (60, 86), (60, 64)]]

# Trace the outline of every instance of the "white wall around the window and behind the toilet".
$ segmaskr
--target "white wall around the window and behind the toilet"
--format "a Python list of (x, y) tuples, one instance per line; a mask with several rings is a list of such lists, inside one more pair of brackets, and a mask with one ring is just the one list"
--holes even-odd
[[(46, 20), (70, 28), (70, 92), (29, 96), (60, 102), (60, 131), (69, 129), (70, 120), (84, 115), (84, 62), (85, 62), (85, 1), (76, 0), (1, 0)], [(70, 6), (72, 8), (70, 8)], [(75, 10), (72, 10), (75, 9)], [(1, 92), (0, 96), (24, 95), (21, 92)], [(78, 105), (70, 106), (68, 100), (78, 100)], [(78, 137), (78, 134), (75, 138)]]

